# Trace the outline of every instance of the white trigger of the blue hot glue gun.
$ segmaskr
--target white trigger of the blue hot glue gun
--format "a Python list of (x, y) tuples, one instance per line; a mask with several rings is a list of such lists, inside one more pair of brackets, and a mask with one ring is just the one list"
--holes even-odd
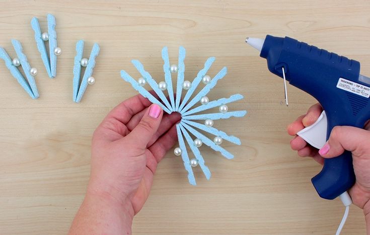
[(297, 135), (301, 136), (310, 145), (320, 149), (326, 143), (327, 126), (328, 120), (325, 111), (323, 111), (314, 124), (302, 129)]

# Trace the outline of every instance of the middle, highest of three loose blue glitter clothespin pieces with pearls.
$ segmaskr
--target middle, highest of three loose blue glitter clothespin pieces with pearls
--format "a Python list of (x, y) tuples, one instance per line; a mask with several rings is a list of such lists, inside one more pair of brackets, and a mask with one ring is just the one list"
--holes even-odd
[[(51, 79), (56, 75), (56, 56), (61, 54), (61, 49), (57, 47), (56, 42), (56, 31), (55, 31), (55, 17), (51, 14), (47, 15), (47, 28), (48, 32), (41, 33), (41, 28), (39, 20), (34, 17), (31, 20), (31, 26), (33, 31), (35, 31), (35, 40), (37, 44), (37, 49), (41, 54), (42, 62), (45, 65), (47, 74)], [(49, 54), (46, 51), (45, 42), (49, 42)]]

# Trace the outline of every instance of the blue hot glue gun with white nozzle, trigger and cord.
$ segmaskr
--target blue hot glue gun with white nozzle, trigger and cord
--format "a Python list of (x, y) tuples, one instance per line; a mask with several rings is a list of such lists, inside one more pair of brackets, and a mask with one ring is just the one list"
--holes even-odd
[[(289, 37), (267, 35), (265, 39), (247, 38), (246, 42), (260, 51), (272, 73), (284, 79), (286, 105), (285, 81), (288, 81), (323, 107), (319, 120), (298, 133), (313, 146), (322, 147), (335, 126), (363, 128), (370, 119), (370, 78), (360, 75), (358, 61)], [(339, 234), (352, 203), (347, 190), (355, 183), (351, 152), (325, 159), (322, 171), (311, 181), (320, 197), (339, 196), (346, 206)]]

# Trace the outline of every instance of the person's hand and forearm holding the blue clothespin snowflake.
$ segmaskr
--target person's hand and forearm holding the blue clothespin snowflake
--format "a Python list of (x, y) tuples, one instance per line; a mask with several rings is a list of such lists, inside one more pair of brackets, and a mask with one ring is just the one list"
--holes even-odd
[(115, 107), (93, 135), (91, 175), (70, 234), (129, 234), (157, 164), (177, 141), (178, 113), (163, 114), (141, 95)]

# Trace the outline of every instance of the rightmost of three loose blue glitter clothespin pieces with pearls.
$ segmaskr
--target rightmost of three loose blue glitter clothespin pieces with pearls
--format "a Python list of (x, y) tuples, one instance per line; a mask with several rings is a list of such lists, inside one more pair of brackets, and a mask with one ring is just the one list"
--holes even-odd
[[(97, 43), (94, 43), (93, 49), (91, 50), (90, 58), (83, 58), (84, 54), (84, 41), (80, 40), (76, 44), (76, 56), (75, 64), (73, 66), (73, 101), (79, 103), (84, 96), (88, 85), (93, 85), (95, 79), (93, 76), (93, 70), (95, 67), (95, 59), (98, 56), (100, 47)], [(86, 67), (84, 76), (81, 80), (81, 66)]]

